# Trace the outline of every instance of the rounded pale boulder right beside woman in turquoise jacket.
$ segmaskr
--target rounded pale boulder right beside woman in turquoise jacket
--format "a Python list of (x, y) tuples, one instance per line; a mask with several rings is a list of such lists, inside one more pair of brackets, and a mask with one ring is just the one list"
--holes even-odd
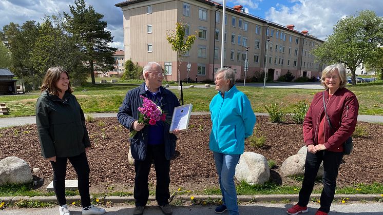
[(235, 169), (235, 178), (248, 184), (262, 185), (270, 179), (270, 169), (262, 154), (244, 152)]

